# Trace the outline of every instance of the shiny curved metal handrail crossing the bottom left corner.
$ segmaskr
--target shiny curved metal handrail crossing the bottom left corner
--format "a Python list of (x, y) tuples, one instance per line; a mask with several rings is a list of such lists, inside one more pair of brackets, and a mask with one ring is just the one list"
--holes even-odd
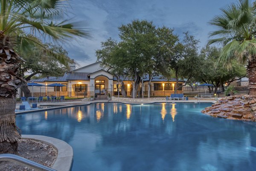
[(38, 164), (36, 162), (17, 156), (15, 154), (0, 154), (0, 161), (16, 162), (20, 165), (35, 169), (36, 171), (56, 171), (52, 168), (48, 168), (44, 165)]

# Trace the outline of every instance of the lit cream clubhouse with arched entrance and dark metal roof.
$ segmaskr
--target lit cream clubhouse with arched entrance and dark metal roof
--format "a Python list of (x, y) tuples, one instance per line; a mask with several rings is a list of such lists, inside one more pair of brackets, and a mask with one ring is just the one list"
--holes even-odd
[[(35, 96), (95, 96), (101, 95), (106, 96), (110, 93), (112, 96), (118, 94), (118, 88), (116, 85), (117, 80), (111, 73), (105, 71), (100, 67), (101, 62), (96, 62), (79, 69), (75, 69), (66, 72), (61, 77), (47, 76), (45, 78), (39, 78), (31, 80), (30, 82), (43, 84), (45, 87), (40, 87), (34, 93)], [(72, 67), (71, 67), (72, 68)], [(127, 96), (131, 96), (131, 91), (133, 89), (133, 82), (130, 78), (124, 79), (125, 93)], [(49, 84), (59, 83), (65, 85), (64, 87), (47, 87)], [(184, 81), (179, 80), (178, 86), (182, 85)], [(151, 81), (150, 96), (170, 96), (174, 93), (174, 88), (176, 85), (176, 79), (167, 79), (162, 76), (154, 77)], [(121, 89), (120, 89), (121, 91)], [(39, 94), (40, 93), (40, 94)], [(148, 76), (143, 78), (143, 87), (139, 85), (140, 95), (144, 93), (145, 96), (148, 95)], [(177, 93), (183, 93), (182, 87)], [(120, 92), (121, 96), (121, 92)]]

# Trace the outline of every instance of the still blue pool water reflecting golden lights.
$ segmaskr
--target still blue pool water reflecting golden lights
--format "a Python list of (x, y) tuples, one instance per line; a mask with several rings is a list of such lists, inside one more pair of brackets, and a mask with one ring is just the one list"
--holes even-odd
[(16, 121), (69, 143), (72, 171), (255, 171), (256, 124), (202, 114), (210, 105), (98, 103)]

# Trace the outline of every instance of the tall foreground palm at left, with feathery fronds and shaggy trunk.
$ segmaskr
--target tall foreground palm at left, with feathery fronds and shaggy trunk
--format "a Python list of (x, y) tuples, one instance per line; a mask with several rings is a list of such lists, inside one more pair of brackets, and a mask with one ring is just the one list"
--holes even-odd
[(88, 37), (83, 23), (60, 21), (67, 5), (65, 0), (0, 0), (0, 154), (15, 153), (20, 139), (15, 125), (15, 97), (17, 88), (26, 81), (19, 74), (24, 61), (15, 53), (15, 45), (20, 43), (23, 49), (41, 45), (22, 33), (47, 35), (57, 41)]

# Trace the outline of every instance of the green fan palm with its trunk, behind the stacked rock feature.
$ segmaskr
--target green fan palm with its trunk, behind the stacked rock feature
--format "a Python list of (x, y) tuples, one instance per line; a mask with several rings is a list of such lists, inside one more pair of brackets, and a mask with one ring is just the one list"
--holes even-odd
[(250, 0), (239, 0), (237, 4), (222, 8), (210, 24), (217, 30), (210, 33), (208, 43), (223, 46), (219, 62), (230, 69), (232, 61), (247, 64), (249, 95), (256, 96), (256, 11)]

